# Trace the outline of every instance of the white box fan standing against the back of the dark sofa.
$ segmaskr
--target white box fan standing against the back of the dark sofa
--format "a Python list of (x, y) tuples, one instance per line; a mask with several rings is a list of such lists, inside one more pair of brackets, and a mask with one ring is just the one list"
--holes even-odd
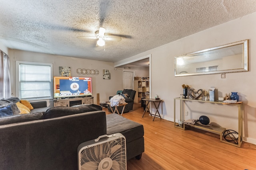
[(121, 133), (102, 135), (78, 146), (79, 170), (126, 170), (126, 140)]

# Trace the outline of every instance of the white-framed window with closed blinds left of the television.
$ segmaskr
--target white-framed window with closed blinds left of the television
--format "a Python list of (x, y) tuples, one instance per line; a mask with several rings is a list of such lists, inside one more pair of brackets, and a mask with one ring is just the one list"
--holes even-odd
[(17, 61), (16, 70), (20, 99), (52, 98), (52, 64)]

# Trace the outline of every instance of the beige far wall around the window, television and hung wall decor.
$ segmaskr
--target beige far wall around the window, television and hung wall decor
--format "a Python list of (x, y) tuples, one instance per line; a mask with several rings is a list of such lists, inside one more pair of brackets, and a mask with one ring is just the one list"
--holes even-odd
[[(109, 96), (116, 94), (116, 91), (122, 89), (122, 70), (115, 70), (114, 63), (102, 62), (88, 59), (78, 59), (73, 57), (64, 57), (58, 55), (47, 55), (29, 51), (9, 50), (10, 74), (12, 96), (16, 96), (16, 61), (30, 61), (53, 64), (53, 76), (59, 76), (59, 66), (70, 66), (71, 76), (92, 77), (92, 93), (94, 103), (97, 103), (97, 93), (100, 94), (100, 102), (108, 101)], [(77, 74), (77, 68), (86, 68), (99, 70), (98, 75)], [(111, 71), (111, 79), (103, 79), (103, 69)], [(49, 102), (52, 106), (52, 102)]]

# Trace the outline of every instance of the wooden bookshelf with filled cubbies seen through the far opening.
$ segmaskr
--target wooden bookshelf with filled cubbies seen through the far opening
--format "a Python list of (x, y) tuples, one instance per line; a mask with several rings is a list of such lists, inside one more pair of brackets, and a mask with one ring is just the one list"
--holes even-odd
[[(134, 103), (141, 103), (143, 98), (149, 98), (149, 80), (134, 80), (136, 90)], [(147, 93), (146, 93), (147, 92)]]

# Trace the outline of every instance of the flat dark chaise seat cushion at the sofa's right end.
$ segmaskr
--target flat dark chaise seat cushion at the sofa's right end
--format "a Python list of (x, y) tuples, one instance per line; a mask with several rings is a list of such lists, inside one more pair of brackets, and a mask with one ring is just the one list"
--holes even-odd
[(106, 121), (107, 135), (122, 133), (126, 138), (126, 143), (144, 136), (142, 124), (126, 119), (118, 114), (112, 113), (106, 115)]

